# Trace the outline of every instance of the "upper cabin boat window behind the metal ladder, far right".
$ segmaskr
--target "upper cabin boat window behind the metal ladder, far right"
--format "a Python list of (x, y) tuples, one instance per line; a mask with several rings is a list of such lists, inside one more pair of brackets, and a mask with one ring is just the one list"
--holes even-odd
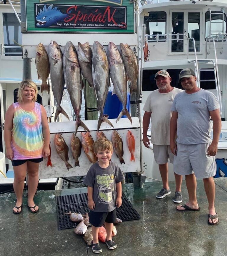
[[(216, 34), (226, 33), (226, 15), (224, 14), (224, 23), (223, 23), (223, 13), (215, 12), (211, 13), (211, 22), (210, 22), (210, 12), (205, 13), (205, 38), (212, 34), (211, 37), (215, 38)], [(220, 39), (224, 36), (220, 36)], [(215, 40), (216, 41), (216, 40)]]

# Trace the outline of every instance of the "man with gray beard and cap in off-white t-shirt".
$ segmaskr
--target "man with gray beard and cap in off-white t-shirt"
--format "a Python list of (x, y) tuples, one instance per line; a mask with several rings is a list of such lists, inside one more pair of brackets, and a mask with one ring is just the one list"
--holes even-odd
[[(155, 81), (159, 89), (150, 93), (143, 108), (145, 111), (143, 116), (143, 144), (149, 148), (147, 129), (151, 118), (151, 142), (153, 143), (155, 162), (159, 166), (163, 182), (163, 188), (156, 195), (156, 198), (164, 198), (171, 193), (168, 184), (168, 158), (170, 163), (173, 163), (174, 159), (170, 150), (170, 119), (172, 115), (170, 108), (174, 97), (182, 90), (171, 86), (171, 77), (165, 70), (160, 70), (155, 74)], [(174, 203), (181, 203), (183, 200), (181, 194), (182, 175), (175, 173), (174, 175), (176, 180)]]

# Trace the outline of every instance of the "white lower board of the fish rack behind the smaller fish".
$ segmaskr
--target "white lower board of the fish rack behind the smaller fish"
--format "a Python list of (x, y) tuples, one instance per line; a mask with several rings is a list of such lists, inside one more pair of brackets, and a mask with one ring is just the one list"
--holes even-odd
[[(111, 140), (111, 135), (113, 130), (116, 130), (123, 141), (123, 150), (124, 155), (123, 159), (125, 164), (120, 163), (119, 158), (117, 158), (115, 152), (112, 155), (112, 161), (117, 163), (123, 172), (136, 172), (140, 170), (140, 122), (138, 117), (132, 117), (132, 124), (128, 120), (128, 118), (121, 118), (117, 123), (116, 119), (109, 119), (110, 122), (113, 124), (114, 128), (109, 126), (106, 123), (102, 123), (100, 127), (100, 131), (106, 135), (107, 139)], [(87, 128), (90, 130), (90, 133), (95, 141), (97, 139), (96, 131), (98, 120), (87, 120), (83, 121)], [(40, 163), (39, 168), (39, 178), (56, 178), (56, 177), (72, 177), (72, 176), (84, 176), (87, 174), (88, 169), (92, 165), (90, 161), (87, 159), (85, 152), (82, 148), (81, 155), (79, 157), (80, 167), (75, 167), (75, 160), (72, 157), (71, 151), (71, 137), (72, 133), (74, 133), (75, 129), (75, 122), (59, 122), (59, 123), (49, 123), (50, 133), (51, 133), (51, 162), (52, 167), (47, 167), (47, 158)], [(128, 149), (127, 145), (127, 132), (128, 130), (132, 131), (134, 138), (135, 138), (135, 162), (130, 162), (131, 154)], [(79, 137), (81, 141), (81, 132), (84, 131), (82, 127), (78, 128), (77, 137)], [(67, 146), (69, 147), (69, 163), (73, 166), (67, 170), (64, 162), (61, 160), (59, 155), (56, 152), (56, 148), (54, 145), (54, 136), (56, 133), (60, 133)]]

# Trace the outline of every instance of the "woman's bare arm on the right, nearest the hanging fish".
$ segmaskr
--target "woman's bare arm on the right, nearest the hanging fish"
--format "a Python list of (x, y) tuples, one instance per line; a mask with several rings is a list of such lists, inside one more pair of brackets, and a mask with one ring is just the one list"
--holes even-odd
[(44, 158), (48, 157), (50, 155), (50, 130), (49, 130), (49, 125), (47, 121), (47, 115), (46, 115), (46, 110), (42, 105), (41, 107), (41, 112), (42, 112), (42, 128), (43, 128), (43, 139), (44, 139), (44, 145), (43, 145), (43, 156)]

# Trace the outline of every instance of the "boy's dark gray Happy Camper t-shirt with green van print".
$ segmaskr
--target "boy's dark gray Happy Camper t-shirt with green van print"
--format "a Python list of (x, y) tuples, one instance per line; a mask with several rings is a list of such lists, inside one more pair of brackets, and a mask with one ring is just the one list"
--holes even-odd
[(116, 208), (116, 183), (124, 180), (121, 169), (110, 161), (107, 168), (94, 163), (87, 172), (84, 184), (93, 187), (94, 212), (112, 212)]

